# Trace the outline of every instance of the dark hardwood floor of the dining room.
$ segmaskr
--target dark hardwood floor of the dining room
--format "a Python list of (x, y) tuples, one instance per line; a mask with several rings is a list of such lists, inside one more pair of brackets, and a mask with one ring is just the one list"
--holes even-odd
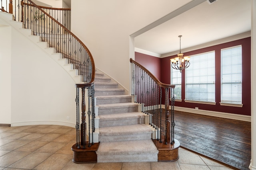
[(174, 111), (180, 146), (239, 170), (249, 170), (251, 123)]

